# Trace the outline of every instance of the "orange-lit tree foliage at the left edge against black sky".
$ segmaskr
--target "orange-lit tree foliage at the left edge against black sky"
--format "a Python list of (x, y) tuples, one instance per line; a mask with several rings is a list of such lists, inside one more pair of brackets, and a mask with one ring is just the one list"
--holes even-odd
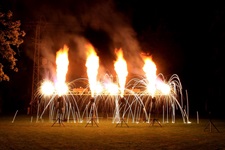
[(15, 49), (18, 49), (23, 43), (22, 37), (25, 36), (25, 32), (20, 30), (20, 20), (13, 21), (12, 16), (11, 11), (0, 12), (0, 81), (9, 81), (10, 79), (4, 72), (5, 68), (18, 71)]

